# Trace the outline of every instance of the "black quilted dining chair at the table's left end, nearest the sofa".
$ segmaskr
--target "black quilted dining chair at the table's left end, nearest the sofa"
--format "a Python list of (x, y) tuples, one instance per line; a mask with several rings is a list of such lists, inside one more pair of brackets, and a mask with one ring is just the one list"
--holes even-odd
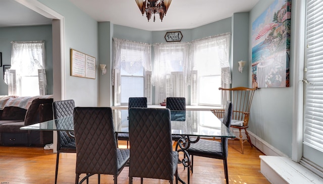
[[(74, 100), (62, 100), (52, 103), (54, 119), (59, 119), (73, 115), (75, 107)], [(70, 132), (73, 134), (73, 132)], [(57, 132), (57, 156), (56, 156), (56, 169), (55, 169), (55, 184), (57, 183), (57, 176), (59, 170), (60, 153), (76, 153), (75, 139), (68, 135), (67, 132)]]

